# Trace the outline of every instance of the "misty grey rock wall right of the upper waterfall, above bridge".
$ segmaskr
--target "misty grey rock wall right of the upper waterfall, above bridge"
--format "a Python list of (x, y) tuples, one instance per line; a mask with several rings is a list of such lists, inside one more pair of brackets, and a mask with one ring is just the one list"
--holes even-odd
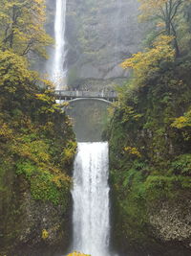
[(138, 1), (72, 0), (66, 21), (69, 84), (128, 76), (118, 64), (139, 48)]

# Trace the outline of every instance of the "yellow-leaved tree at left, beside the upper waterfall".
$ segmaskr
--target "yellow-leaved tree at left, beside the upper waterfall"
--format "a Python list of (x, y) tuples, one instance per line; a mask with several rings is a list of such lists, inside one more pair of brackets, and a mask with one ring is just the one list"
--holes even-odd
[(0, 48), (20, 56), (30, 52), (46, 58), (45, 46), (53, 42), (44, 30), (45, 0), (1, 0)]

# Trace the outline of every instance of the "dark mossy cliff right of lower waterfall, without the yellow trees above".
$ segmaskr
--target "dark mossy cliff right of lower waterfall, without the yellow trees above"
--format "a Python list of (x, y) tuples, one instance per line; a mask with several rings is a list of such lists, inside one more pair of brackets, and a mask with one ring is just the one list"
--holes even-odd
[(123, 95), (109, 132), (120, 255), (191, 253), (190, 58), (164, 66)]

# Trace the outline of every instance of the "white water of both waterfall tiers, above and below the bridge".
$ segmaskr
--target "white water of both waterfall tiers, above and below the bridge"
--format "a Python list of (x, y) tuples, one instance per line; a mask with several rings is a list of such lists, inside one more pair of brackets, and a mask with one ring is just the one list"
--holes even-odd
[[(52, 81), (55, 89), (66, 83), (64, 68), (66, 0), (56, 0), (55, 50)], [(109, 256), (108, 143), (78, 143), (74, 162), (74, 250), (91, 256)]]

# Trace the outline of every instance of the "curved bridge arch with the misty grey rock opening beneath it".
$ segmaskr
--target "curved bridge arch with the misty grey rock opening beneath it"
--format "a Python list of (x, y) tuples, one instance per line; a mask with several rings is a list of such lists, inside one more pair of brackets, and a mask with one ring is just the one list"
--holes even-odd
[(109, 122), (108, 107), (112, 102), (99, 98), (78, 98), (66, 101), (66, 113), (71, 117), (79, 142), (101, 141)]

